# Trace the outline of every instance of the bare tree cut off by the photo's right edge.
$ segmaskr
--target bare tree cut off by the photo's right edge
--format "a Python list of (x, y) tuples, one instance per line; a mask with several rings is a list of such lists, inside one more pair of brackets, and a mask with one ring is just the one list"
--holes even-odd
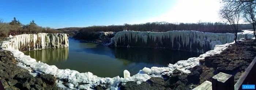
[(246, 7), (243, 10), (245, 20), (251, 23), (253, 26), (254, 37), (256, 37), (256, 31), (255, 31), (255, 26), (256, 26), (255, 10), (256, 9), (255, 8), (256, 8), (256, 4), (246, 4)]

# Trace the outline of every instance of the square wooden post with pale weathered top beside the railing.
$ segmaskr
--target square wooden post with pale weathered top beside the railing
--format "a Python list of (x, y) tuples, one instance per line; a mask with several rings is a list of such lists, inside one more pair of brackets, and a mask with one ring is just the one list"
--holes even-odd
[(234, 76), (219, 73), (212, 77), (212, 90), (234, 90)]

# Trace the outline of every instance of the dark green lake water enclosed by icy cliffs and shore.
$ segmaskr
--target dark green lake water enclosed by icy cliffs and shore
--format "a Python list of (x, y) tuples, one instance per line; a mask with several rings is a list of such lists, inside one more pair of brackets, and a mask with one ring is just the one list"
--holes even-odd
[(166, 67), (179, 60), (198, 57), (200, 53), (154, 48), (108, 47), (69, 38), (68, 48), (42, 49), (25, 52), (26, 55), (59, 69), (91, 72), (99, 77), (123, 77), (123, 71), (131, 75), (143, 67)]

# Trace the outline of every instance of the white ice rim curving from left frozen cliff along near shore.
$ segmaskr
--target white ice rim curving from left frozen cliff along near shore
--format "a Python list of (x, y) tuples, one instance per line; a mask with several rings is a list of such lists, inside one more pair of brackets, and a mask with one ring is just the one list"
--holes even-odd
[[(57, 77), (59, 79), (57, 81), (57, 84), (59, 85), (59, 87), (63, 87), (66, 89), (77, 89), (77, 88), (91, 89), (90, 87), (104, 84), (104, 85), (109, 85), (110, 90), (117, 90), (118, 84), (120, 82), (136, 81), (138, 84), (140, 84), (146, 81), (147, 79), (150, 79), (151, 77), (161, 77), (161, 74), (172, 73), (172, 71), (175, 69), (181, 70), (184, 73), (190, 73), (188, 69), (196, 65), (199, 65), (199, 60), (204, 59), (204, 57), (206, 56), (211, 56), (214, 54), (221, 53), (222, 50), (226, 49), (229, 45), (234, 43), (234, 42), (231, 42), (223, 45), (216, 45), (213, 50), (210, 50), (200, 55), (199, 57), (193, 57), (193, 58), (189, 58), (188, 60), (178, 61), (176, 64), (169, 64), (167, 67), (151, 67), (151, 68), (144, 67), (142, 70), (138, 71), (137, 74), (132, 76), (129, 75), (129, 71), (125, 70), (124, 71), (125, 78), (119, 77), (119, 76), (116, 76), (113, 78), (108, 78), (108, 77), (103, 78), (103, 77), (97, 77), (96, 75), (93, 75), (93, 73), (90, 73), (90, 72), (79, 73), (76, 70), (58, 69), (54, 65), (47, 65), (42, 62), (37, 62), (35, 59), (25, 55), (24, 53), (18, 50), (20, 45), (26, 45), (35, 41), (42, 41), (42, 42), (39, 42), (41, 43), (41, 46), (38, 46), (38, 47), (41, 47), (42, 49), (43, 47), (48, 47), (48, 46), (51, 46), (52, 48), (68, 46), (66, 45), (68, 43), (66, 41), (67, 37), (63, 37), (63, 36), (67, 36), (67, 34), (62, 34), (62, 35), (47, 34), (45, 36), (45, 33), (39, 33), (39, 34), (35, 34), (35, 36), (41, 37), (41, 38), (38, 38), (39, 40), (34, 40), (33, 39), (34, 35), (32, 38), (31, 36), (28, 36), (28, 34), (22, 34), (22, 35), (10, 37), (10, 40), (3, 42), (1, 48), (12, 52), (14, 57), (16, 57), (16, 60), (19, 61), (18, 66), (28, 69), (29, 71), (31, 71), (32, 75), (36, 75), (37, 73), (46, 73), (46, 74), (54, 75), (54, 77)], [(26, 39), (19, 39), (19, 38), (26, 38)], [(48, 38), (48, 39), (43, 39), (43, 38)], [(232, 36), (230, 38), (232, 38)], [(55, 40), (55, 42), (57, 41), (58, 43), (54, 43), (54, 45), (51, 45), (53, 44), (53, 41), (52, 41), (53, 39)], [(64, 43), (64, 42), (67, 42), (67, 43)], [(68, 88), (62, 84), (61, 79), (68, 79), (68, 82), (66, 83)], [(81, 85), (79, 83), (85, 83), (85, 84)]]

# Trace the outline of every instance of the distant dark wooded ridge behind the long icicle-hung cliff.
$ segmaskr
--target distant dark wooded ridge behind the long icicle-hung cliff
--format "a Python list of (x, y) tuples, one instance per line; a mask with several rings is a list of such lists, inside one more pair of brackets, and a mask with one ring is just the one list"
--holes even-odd
[[(253, 29), (251, 24), (239, 24), (239, 30)], [(79, 32), (119, 32), (123, 30), (135, 31), (152, 31), (152, 32), (166, 32), (170, 30), (197, 30), (201, 32), (213, 33), (232, 33), (231, 27), (227, 23), (166, 23), (153, 22), (144, 24), (124, 24), (124, 25), (109, 25), (109, 26), (87, 26), (87, 27), (70, 27), (60, 28), (64, 32), (79, 31)]]

